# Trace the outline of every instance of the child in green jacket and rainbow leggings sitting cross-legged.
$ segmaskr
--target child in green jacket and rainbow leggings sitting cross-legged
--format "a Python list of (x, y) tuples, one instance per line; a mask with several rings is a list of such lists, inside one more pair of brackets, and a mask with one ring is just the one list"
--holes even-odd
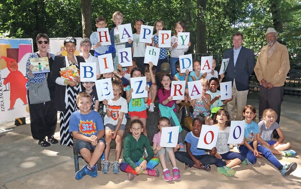
[[(128, 173), (130, 181), (140, 174), (158, 177), (159, 170), (154, 167), (159, 164), (159, 159), (154, 157), (148, 138), (141, 134), (143, 132), (142, 122), (139, 119), (132, 120), (129, 130), (131, 134), (124, 139), (124, 161), (120, 163), (120, 170)], [(144, 147), (148, 154), (147, 157), (143, 157)]]

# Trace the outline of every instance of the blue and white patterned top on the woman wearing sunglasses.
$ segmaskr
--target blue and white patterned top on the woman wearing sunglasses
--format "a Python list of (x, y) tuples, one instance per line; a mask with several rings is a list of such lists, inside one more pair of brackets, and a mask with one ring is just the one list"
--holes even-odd
[[(49, 53), (51, 58), (54, 60), (54, 57), (55, 55), (54, 54), (51, 54)], [(37, 74), (34, 74), (34, 76), (29, 76), (29, 65), (30, 65), (30, 61), (29, 59), (30, 58), (39, 58), (38, 56), (38, 53), (33, 53), (33, 54), (30, 54), (27, 61), (26, 61), (26, 77), (28, 78), (28, 81), (26, 82), (26, 89), (28, 90), (29, 89), (29, 83), (40, 83), (41, 81), (44, 81), (45, 79), (45, 75), (46, 73), (37, 73)], [(50, 77), (50, 72), (48, 73), (48, 77)]]

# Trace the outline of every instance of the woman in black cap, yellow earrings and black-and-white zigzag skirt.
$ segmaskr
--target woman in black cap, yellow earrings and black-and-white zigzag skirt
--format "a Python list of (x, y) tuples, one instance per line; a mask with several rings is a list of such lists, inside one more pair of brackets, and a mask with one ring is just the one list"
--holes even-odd
[(77, 50), (74, 37), (65, 38), (64, 49), (62, 54), (55, 56), (51, 80), (56, 83), (55, 105), (60, 111), (61, 145), (72, 146), (73, 137), (69, 134), (69, 120), (71, 113), (77, 110), (76, 96), (82, 91), (83, 86), (80, 84), (80, 76), (73, 76), (71, 80), (64, 79), (61, 77), (60, 71), (61, 68), (75, 65), (79, 72), (80, 63), (85, 62), (85, 59), (75, 55)]

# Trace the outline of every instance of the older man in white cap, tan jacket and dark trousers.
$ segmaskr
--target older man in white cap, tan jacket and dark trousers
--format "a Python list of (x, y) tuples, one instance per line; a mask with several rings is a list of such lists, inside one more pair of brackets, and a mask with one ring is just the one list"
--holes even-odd
[[(266, 108), (272, 108), (280, 121), (284, 82), (290, 69), (288, 49), (277, 42), (278, 34), (274, 28), (266, 32), (267, 45), (262, 47), (254, 68), (260, 82), (259, 118)], [(274, 133), (274, 138), (277, 137)], [(275, 136), (276, 135), (276, 136)]]

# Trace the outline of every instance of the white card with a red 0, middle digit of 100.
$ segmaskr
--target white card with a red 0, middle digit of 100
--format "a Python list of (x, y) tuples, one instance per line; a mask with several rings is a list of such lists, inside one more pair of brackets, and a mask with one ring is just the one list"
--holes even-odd
[(202, 125), (200, 139), (198, 140), (198, 148), (211, 150), (216, 146), (218, 135), (219, 127)]

